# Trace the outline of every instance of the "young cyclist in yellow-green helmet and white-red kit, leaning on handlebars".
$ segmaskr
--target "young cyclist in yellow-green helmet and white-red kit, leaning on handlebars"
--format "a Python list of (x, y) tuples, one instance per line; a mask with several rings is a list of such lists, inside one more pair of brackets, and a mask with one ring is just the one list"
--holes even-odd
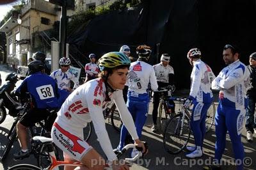
[[(138, 139), (132, 116), (122, 95), (130, 63), (129, 58), (122, 52), (105, 54), (99, 59), (100, 77), (79, 86), (65, 100), (58, 112), (51, 134), (54, 143), (64, 151), (65, 160), (70, 162), (79, 160), (84, 164), (83, 169), (104, 169), (105, 161), (102, 162), (104, 159), (83, 139), (83, 128), (92, 121), (100, 146), (108, 157), (109, 163), (113, 164), (113, 169), (129, 169), (127, 165), (118, 164), (106, 131), (102, 111), (111, 100), (115, 102), (121, 119), (135, 144), (145, 151), (144, 144)], [(97, 165), (93, 165), (95, 162)], [(72, 168), (65, 167), (65, 169)]]

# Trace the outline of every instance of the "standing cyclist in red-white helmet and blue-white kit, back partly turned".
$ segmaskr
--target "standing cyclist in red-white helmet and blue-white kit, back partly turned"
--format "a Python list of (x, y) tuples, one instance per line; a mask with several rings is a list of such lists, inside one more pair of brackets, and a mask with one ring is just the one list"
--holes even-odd
[(188, 146), (191, 151), (186, 157), (196, 158), (202, 157), (204, 136), (206, 132), (205, 119), (207, 110), (213, 101), (211, 91), (211, 82), (215, 78), (212, 69), (201, 60), (201, 52), (199, 49), (190, 49), (188, 52), (189, 63), (193, 66), (191, 72), (191, 88), (189, 98), (184, 103), (184, 107), (189, 108), (193, 102), (193, 111), (191, 114), (191, 130), (195, 137), (195, 146)]

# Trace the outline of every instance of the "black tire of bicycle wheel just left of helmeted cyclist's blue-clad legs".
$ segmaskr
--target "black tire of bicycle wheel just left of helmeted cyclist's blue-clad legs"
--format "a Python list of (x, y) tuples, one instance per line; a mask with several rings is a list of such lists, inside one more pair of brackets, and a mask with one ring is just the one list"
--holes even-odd
[[(188, 134), (188, 138), (186, 139), (186, 142), (182, 145), (182, 147), (180, 147), (178, 150), (176, 151), (173, 151), (173, 150), (170, 150), (168, 147), (167, 147), (167, 144), (166, 144), (166, 138), (167, 138), (167, 130), (168, 130), (168, 127), (169, 125), (174, 125), (173, 121), (177, 118), (177, 117), (180, 117), (182, 118), (182, 114), (176, 114), (175, 116), (173, 116), (172, 118), (170, 118), (170, 120), (168, 121), (168, 123), (166, 123), (166, 127), (164, 128), (164, 134), (163, 134), (163, 144), (164, 144), (164, 149), (172, 154), (172, 155), (177, 155), (178, 153), (180, 153), (182, 150), (184, 150), (184, 148), (186, 147), (186, 145), (188, 144), (188, 141), (189, 141), (189, 138), (190, 138), (190, 135), (191, 135), (191, 128), (190, 128), (190, 122), (189, 122), (189, 118), (188, 116), (185, 116), (185, 119), (186, 121), (188, 121), (188, 126), (189, 126), (189, 134)], [(176, 145), (177, 146), (177, 145)]]

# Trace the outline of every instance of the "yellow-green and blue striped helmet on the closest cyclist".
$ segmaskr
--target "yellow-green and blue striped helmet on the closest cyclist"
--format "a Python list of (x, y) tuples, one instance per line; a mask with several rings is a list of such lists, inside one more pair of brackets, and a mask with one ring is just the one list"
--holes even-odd
[(130, 59), (123, 52), (108, 52), (98, 61), (100, 71), (103, 71), (104, 68), (115, 68), (120, 65), (129, 66), (130, 64)]

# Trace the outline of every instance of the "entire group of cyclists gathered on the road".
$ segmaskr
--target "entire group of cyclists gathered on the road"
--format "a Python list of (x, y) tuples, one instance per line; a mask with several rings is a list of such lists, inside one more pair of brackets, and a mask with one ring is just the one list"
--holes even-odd
[[(141, 131), (148, 115), (150, 96), (148, 88), (154, 91), (154, 107), (152, 111), (152, 132), (157, 131), (157, 108), (159, 95), (157, 91), (161, 88), (174, 86), (174, 71), (170, 66), (169, 54), (162, 54), (161, 61), (157, 65), (148, 64), (152, 50), (147, 45), (136, 48), (138, 59), (134, 58), (130, 48), (124, 45), (120, 52), (108, 52), (104, 54), (97, 64), (96, 55), (90, 54), (91, 63), (86, 64), (86, 81), (79, 86), (74, 75), (68, 72), (70, 66), (69, 58), (60, 59), (60, 69), (51, 73), (45, 65), (45, 55), (42, 52), (34, 54), (34, 61), (29, 63), (28, 77), (17, 88), (16, 92), (20, 100), (26, 98), (27, 93), (33, 99), (34, 107), (26, 113), (17, 125), (21, 150), (15, 153), (15, 158), (28, 157), (28, 144), (26, 144), (26, 128), (40, 120), (44, 120), (49, 114), (49, 109), (60, 108), (57, 118), (51, 129), (51, 137), (54, 144), (63, 150), (65, 160), (77, 162), (79, 160), (84, 167), (76, 169), (104, 169), (109, 163), (113, 169), (129, 169), (126, 164), (118, 162), (111, 141), (106, 130), (104, 115), (109, 102), (115, 102), (120, 113), (122, 125), (120, 142), (116, 150), (122, 150), (125, 145), (127, 133), (131, 135), (134, 144), (143, 148), (141, 142)], [(223, 60), (228, 65), (215, 77), (211, 67), (201, 60), (201, 52), (198, 48), (190, 49), (188, 61), (193, 66), (191, 71), (191, 88), (189, 97), (183, 107), (189, 108), (193, 104), (191, 112), (191, 130), (195, 138), (194, 146), (187, 146), (188, 158), (198, 158), (203, 155), (203, 143), (205, 137), (205, 119), (213, 95), (211, 89), (220, 90), (219, 105), (216, 112), (216, 146), (215, 158), (220, 162), (225, 150), (227, 130), (233, 145), (236, 159), (243, 160), (244, 150), (241, 142), (241, 130), (247, 96), (246, 91), (250, 86), (250, 72), (247, 67), (239, 61), (239, 50), (234, 45), (225, 45), (223, 48)], [(255, 56), (252, 56), (252, 58)], [(256, 59), (256, 57), (255, 57)], [(48, 74), (48, 75), (47, 75)], [(70, 81), (74, 82), (74, 88), (70, 88)], [(150, 84), (150, 86), (148, 86)], [(127, 89), (127, 102), (123, 97), (123, 89)], [(125, 92), (126, 93), (126, 92)], [(167, 95), (167, 94), (166, 94)], [(175, 108), (172, 108), (175, 111)], [(90, 144), (84, 141), (83, 128), (92, 121), (95, 133), (102, 150), (108, 161), (102, 162), (104, 158)], [(131, 157), (136, 155), (137, 150), (131, 152)], [(99, 164), (95, 165), (97, 160)], [(93, 164), (92, 164), (93, 163)], [(209, 167), (220, 169), (220, 165)], [(243, 164), (237, 165), (243, 169)], [(66, 170), (72, 169), (65, 167)]]

